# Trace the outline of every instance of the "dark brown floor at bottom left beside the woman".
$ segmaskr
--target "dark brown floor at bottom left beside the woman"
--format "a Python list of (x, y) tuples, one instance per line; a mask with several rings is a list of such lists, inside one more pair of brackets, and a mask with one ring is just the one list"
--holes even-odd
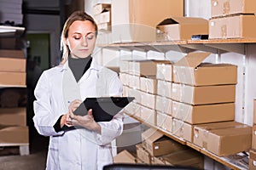
[(20, 156), (18, 147), (0, 148), (0, 170), (44, 170), (49, 139), (30, 129), (30, 155)]

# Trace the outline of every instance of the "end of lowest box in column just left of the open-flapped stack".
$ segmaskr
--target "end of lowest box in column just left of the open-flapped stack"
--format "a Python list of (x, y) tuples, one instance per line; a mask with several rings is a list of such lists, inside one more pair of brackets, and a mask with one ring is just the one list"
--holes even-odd
[(172, 116), (161, 113), (160, 111), (156, 112), (156, 126), (172, 133)]

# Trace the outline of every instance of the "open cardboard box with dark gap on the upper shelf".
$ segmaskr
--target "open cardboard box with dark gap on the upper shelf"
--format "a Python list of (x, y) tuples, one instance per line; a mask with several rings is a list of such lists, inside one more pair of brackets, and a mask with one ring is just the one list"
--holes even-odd
[(163, 41), (189, 40), (193, 35), (208, 35), (208, 20), (172, 16), (161, 21), (157, 28), (164, 34)]

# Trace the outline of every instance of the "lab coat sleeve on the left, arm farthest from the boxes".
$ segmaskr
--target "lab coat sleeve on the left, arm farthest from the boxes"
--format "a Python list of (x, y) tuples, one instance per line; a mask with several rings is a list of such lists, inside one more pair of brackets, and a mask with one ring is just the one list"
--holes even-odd
[(56, 136), (61, 135), (64, 132), (55, 132), (55, 122), (60, 117), (58, 114), (54, 114), (50, 102), (50, 84), (47, 72), (43, 72), (42, 76), (38, 80), (38, 84), (35, 88), (34, 94), (36, 100), (34, 101), (34, 113), (33, 122), (38, 130), (38, 133), (44, 136)]

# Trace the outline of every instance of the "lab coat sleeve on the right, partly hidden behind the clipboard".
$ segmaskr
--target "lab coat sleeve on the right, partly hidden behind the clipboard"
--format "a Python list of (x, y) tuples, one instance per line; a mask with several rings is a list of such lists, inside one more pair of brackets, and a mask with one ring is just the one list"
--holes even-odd
[[(123, 93), (123, 85), (115, 75), (109, 85), (110, 96), (121, 96)], [(113, 139), (117, 138), (123, 132), (123, 111), (120, 111), (110, 122), (98, 122), (102, 127), (102, 133), (96, 134), (96, 142), (100, 145), (109, 144)]]

